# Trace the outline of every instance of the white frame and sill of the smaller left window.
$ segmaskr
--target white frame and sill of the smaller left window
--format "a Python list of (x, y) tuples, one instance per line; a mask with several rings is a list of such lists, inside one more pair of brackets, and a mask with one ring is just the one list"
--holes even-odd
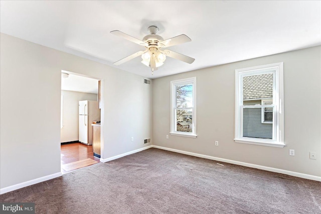
[[(192, 102), (192, 107), (189, 107), (192, 109), (192, 132), (182, 132), (182, 131), (176, 131), (177, 128), (177, 123), (176, 123), (176, 116), (175, 112), (177, 109), (176, 108), (176, 86), (177, 85), (185, 85), (185, 84), (193, 84), (193, 102)], [(192, 78), (186, 78), (186, 79), (181, 79), (181, 80), (173, 80), (171, 81), (171, 135), (177, 135), (177, 136), (184, 136), (184, 137), (193, 137), (196, 138), (196, 77)]]

